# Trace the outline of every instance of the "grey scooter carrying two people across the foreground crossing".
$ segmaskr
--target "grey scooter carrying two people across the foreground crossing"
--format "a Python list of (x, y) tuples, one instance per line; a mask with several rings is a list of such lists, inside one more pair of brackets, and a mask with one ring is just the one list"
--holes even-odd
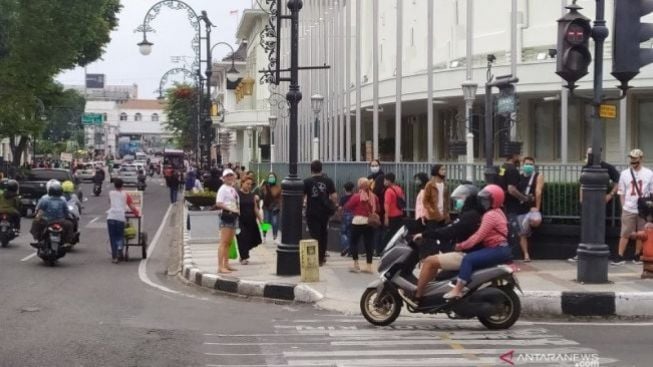
[(491, 330), (508, 329), (519, 319), (521, 302), (515, 288), (520, 292), (521, 288), (514, 269), (508, 265), (475, 271), (467, 284), (469, 291), (453, 300), (445, 300), (443, 296), (453, 287), (456, 273), (443, 273), (426, 286), (419, 306), (412, 307), (402, 293), (415, 292), (417, 278), (413, 270), (418, 262), (418, 246), (404, 226), (386, 245), (378, 269), (380, 279), (372, 282), (361, 296), (361, 312), (368, 322), (378, 326), (392, 324), (404, 303), (411, 313), (443, 313), (451, 319), (477, 318)]

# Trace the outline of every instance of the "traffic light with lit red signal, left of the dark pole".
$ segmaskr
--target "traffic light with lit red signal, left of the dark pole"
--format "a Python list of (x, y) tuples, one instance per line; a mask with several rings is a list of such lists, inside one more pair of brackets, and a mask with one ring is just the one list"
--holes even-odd
[(569, 83), (574, 83), (587, 75), (592, 62), (589, 39), (592, 34), (589, 18), (578, 12), (582, 9), (576, 4), (567, 6), (569, 13), (558, 19), (558, 57), (556, 74)]

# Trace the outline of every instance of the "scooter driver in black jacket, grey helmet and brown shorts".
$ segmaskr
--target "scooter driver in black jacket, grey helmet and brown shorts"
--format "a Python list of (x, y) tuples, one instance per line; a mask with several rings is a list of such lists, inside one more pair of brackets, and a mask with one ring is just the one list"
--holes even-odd
[[(460, 264), (465, 252), (454, 251), (454, 244), (470, 237), (481, 224), (482, 209), (477, 201), (478, 188), (471, 184), (458, 186), (451, 194), (454, 209), (459, 212), (458, 218), (445, 227), (427, 229), (413, 237), (414, 241), (420, 238), (438, 240), (440, 246), (436, 255), (428, 256), (422, 262), (422, 268), (417, 281), (417, 289), (412, 299), (404, 297), (406, 302), (413, 307), (419, 307), (419, 302), (426, 285), (435, 278), (439, 269), (455, 271), (460, 269)], [(435, 241), (429, 241), (429, 243)], [(437, 252), (441, 252), (437, 254)]]

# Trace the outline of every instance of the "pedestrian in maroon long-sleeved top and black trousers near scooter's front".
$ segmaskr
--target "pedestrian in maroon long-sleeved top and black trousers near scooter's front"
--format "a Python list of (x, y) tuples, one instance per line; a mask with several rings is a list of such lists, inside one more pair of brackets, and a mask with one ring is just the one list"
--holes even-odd
[[(351, 245), (349, 250), (354, 260), (351, 272), (372, 272), (372, 255), (374, 251), (374, 218), (380, 218), (379, 199), (370, 189), (369, 181), (365, 177), (358, 180), (358, 192), (345, 204), (345, 209), (354, 214), (351, 224)], [(372, 220), (370, 219), (372, 218)], [(380, 223), (378, 223), (380, 224)], [(358, 263), (358, 243), (361, 238), (365, 246), (365, 268), (361, 269)]]

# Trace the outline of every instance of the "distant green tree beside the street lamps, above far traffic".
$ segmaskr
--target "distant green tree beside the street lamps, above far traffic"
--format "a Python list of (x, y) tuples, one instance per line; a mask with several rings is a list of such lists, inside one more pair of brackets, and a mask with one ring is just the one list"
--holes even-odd
[(166, 91), (166, 130), (175, 135), (179, 147), (193, 151), (197, 131), (197, 90), (188, 84), (175, 84)]

